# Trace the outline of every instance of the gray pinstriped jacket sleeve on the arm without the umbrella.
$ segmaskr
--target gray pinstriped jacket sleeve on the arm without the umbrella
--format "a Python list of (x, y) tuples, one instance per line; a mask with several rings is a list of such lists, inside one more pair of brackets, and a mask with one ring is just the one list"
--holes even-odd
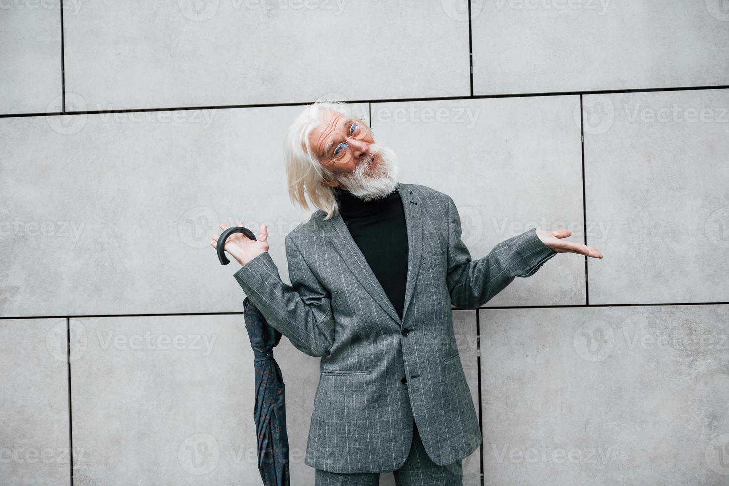
[(502, 241), (491, 253), (471, 260), (461, 241), (461, 218), (448, 196), (448, 291), (451, 304), (461, 309), (477, 309), (509, 285), (515, 277), (534, 275), (539, 267), (557, 254), (542, 243), (531, 228)]

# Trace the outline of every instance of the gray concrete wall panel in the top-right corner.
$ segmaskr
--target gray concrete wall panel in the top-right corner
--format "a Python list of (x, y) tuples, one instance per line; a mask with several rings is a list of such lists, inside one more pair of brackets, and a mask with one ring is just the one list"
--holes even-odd
[(724, 0), (472, 2), (473, 92), (726, 85)]

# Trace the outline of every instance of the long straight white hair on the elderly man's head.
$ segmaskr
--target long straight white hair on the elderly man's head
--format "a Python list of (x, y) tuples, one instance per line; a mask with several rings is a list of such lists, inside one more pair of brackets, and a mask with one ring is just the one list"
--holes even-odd
[(312, 205), (327, 213), (324, 219), (332, 218), (339, 211), (333, 188), (322, 184), (324, 180), (334, 180), (334, 174), (321, 165), (313, 153), (309, 135), (325, 121), (328, 110), (351, 116), (351, 106), (342, 101), (319, 101), (307, 105), (289, 127), (284, 143), (289, 199), (304, 211), (311, 211), (306, 200), (308, 195)]

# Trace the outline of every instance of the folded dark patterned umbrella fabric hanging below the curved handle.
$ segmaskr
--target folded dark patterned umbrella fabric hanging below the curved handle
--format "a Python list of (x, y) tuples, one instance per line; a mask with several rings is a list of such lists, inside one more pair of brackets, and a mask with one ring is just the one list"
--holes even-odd
[(273, 358), (273, 348), (281, 332), (266, 324), (248, 297), (243, 299), (243, 315), (254, 352), (256, 405), (254, 420), (258, 440), (258, 470), (265, 486), (289, 486), (289, 437), (286, 435), (286, 401), (281, 369)]

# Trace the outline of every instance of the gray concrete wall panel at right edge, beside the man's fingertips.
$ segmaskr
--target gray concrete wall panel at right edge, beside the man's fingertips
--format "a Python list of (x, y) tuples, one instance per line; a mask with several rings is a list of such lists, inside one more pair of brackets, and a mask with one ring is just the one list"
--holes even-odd
[(583, 106), (590, 304), (728, 301), (729, 90)]

